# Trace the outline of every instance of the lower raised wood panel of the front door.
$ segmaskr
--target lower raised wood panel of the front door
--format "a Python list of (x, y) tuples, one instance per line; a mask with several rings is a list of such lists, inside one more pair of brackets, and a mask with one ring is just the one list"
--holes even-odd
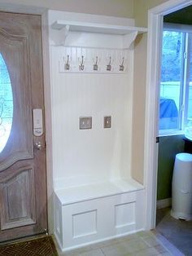
[(30, 225), (35, 218), (33, 166), (23, 167), (0, 184), (2, 230)]

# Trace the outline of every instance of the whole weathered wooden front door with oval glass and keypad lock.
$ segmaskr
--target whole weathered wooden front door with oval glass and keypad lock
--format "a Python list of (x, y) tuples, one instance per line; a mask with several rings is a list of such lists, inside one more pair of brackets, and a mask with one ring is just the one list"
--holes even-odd
[(0, 12), (0, 241), (47, 229), (43, 108), (41, 16)]

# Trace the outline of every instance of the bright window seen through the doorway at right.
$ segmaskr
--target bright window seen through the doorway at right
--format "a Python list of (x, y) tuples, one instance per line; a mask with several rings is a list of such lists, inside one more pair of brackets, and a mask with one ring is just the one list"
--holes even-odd
[(164, 29), (159, 134), (177, 134), (192, 117), (192, 33)]

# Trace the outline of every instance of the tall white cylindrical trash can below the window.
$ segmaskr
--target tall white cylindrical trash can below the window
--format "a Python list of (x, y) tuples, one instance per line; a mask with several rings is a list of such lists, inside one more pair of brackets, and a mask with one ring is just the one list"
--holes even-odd
[(192, 219), (192, 154), (179, 153), (172, 174), (172, 210), (174, 218)]

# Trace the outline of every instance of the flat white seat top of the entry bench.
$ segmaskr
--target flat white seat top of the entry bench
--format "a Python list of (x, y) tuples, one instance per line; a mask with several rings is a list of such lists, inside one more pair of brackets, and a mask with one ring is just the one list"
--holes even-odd
[(104, 196), (112, 196), (125, 192), (134, 192), (144, 189), (142, 184), (133, 179), (117, 179), (103, 183), (91, 183), (83, 186), (63, 188), (56, 190), (62, 205), (68, 205), (80, 201), (89, 201)]

